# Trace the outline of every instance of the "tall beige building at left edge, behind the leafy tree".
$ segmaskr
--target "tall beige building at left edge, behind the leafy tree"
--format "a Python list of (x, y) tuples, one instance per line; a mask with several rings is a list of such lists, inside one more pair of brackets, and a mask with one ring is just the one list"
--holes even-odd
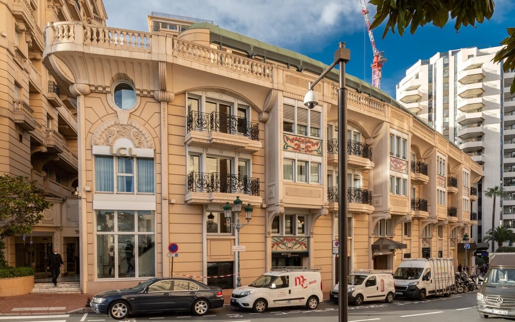
[(0, 175), (35, 180), (53, 203), (32, 234), (6, 241), (7, 260), (33, 267), (38, 280), (50, 276), (45, 260), (55, 247), (63, 256), (63, 275), (78, 280), (76, 101), (47, 70), (44, 29), (50, 21), (105, 25), (104, 5), (96, 0), (7, 0), (0, 2), (0, 16)]

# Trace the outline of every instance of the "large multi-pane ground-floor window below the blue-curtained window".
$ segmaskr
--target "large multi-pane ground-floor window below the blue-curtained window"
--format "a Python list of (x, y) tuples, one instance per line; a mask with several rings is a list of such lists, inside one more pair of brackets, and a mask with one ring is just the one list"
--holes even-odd
[(98, 278), (156, 276), (155, 212), (96, 210)]

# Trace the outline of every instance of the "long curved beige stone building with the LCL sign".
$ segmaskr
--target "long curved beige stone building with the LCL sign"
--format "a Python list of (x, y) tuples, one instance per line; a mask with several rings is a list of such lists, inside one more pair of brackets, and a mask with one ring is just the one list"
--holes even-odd
[[(318, 266), (328, 291), (338, 271), (338, 75), (315, 87), (319, 107), (308, 110), (308, 82), (325, 65), (182, 18), (152, 13), (149, 32), (76, 19), (44, 29), (44, 66), (78, 111), (82, 291), (172, 267), (234, 288), (238, 238), (243, 284), (271, 266)], [(480, 166), (386, 93), (349, 75), (347, 86), (350, 269), (463, 261)], [(239, 236), (223, 209), (237, 197), (242, 222), (253, 209)]]

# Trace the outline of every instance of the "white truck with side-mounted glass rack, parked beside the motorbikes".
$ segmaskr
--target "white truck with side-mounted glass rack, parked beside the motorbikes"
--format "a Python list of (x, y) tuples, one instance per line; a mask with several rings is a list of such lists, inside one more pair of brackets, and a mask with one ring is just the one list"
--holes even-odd
[(427, 295), (451, 295), (455, 287), (452, 258), (405, 259), (395, 273), (396, 296), (425, 300)]

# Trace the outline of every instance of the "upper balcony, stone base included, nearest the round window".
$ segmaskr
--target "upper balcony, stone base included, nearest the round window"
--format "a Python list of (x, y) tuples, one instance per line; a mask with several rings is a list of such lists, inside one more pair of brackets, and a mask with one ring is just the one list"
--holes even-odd
[(225, 113), (192, 111), (186, 117), (186, 145), (257, 152), (261, 149), (259, 123)]

